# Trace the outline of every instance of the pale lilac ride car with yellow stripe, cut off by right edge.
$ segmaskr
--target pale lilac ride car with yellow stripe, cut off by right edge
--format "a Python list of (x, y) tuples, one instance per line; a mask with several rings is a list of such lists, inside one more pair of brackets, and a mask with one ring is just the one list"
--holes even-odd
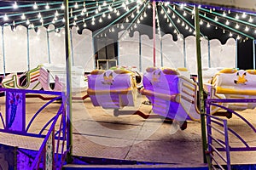
[[(211, 84), (206, 84), (211, 99), (255, 99), (256, 70), (224, 69), (219, 71)], [(233, 111), (255, 108), (255, 103), (226, 104)]]

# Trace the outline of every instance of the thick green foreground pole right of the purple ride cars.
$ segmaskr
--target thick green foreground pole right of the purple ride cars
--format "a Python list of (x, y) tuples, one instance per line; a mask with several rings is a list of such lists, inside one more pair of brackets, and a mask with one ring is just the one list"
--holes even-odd
[(201, 40), (200, 40), (200, 25), (199, 25), (199, 9), (195, 6), (195, 39), (196, 39), (196, 55), (197, 55), (197, 72), (198, 72), (198, 85), (199, 85), (199, 109), (201, 114), (201, 138), (202, 138), (202, 151), (204, 162), (207, 163), (205, 151), (207, 150), (207, 133), (205, 121), (205, 105), (204, 105), (204, 92), (201, 73)]

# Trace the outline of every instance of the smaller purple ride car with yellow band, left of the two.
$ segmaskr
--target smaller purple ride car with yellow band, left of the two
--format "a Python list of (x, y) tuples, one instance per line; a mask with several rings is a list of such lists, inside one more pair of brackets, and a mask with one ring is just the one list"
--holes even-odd
[(134, 106), (137, 98), (135, 75), (127, 70), (95, 70), (88, 75), (87, 94), (94, 106), (120, 109)]

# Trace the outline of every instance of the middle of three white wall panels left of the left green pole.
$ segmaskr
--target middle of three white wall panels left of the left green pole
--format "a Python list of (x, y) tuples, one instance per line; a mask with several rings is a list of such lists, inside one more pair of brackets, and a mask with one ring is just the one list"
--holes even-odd
[(37, 32), (29, 30), (28, 35), (30, 68), (35, 68), (39, 64), (49, 63), (46, 28), (41, 26)]

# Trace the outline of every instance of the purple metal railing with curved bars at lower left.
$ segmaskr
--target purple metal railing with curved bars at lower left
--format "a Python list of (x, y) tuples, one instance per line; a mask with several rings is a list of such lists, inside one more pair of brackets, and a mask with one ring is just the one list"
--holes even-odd
[[(3, 116), (0, 113), (1, 119), (2, 119), (2, 123), (3, 123), (3, 128), (0, 129), (0, 132), (3, 133), (15, 133), (15, 134), (20, 134), (20, 135), (25, 135), (25, 136), (32, 136), (32, 137), (39, 137), (39, 138), (44, 138), (44, 142), (40, 147), (40, 150), (38, 150), (38, 155), (36, 156), (35, 160), (32, 162), (32, 167), (29, 167), (29, 165), (27, 165), (28, 169), (39, 169), (42, 167), (39, 167), (39, 165), (41, 165), (42, 161), (44, 163), (44, 167), (45, 167), (45, 163), (47, 161), (46, 160), (46, 150), (45, 150), (45, 144), (47, 143), (50, 135), (52, 135), (52, 150), (50, 152), (52, 152), (52, 156), (53, 156), (53, 169), (61, 169), (62, 165), (63, 165), (63, 161), (64, 161), (64, 157), (65, 154), (67, 153), (67, 150), (64, 150), (64, 144), (66, 143), (66, 139), (67, 139), (67, 119), (66, 119), (66, 111), (65, 111), (65, 107), (64, 107), (64, 103), (62, 102), (60, 105), (60, 108), (57, 112), (57, 114), (51, 118), (49, 120), (49, 122), (46, 122), (46, 124), (44, 125), (43, 129), (39, 132), (39, 133), (28, 133), (29, 127), (31, 126), (32, 122), (34, 121), (35, 117), (38, 116), (38, 114), (44, 110), (44, 108), (46, 106), (48, 106), (49, 104), (53, 103), (55, 100), (57, 99), (61, 99), (62, 97), (64, 97), (64, 95), (61, 92), (48, 92), (48, 91), (38, 91), (38, 90), (25, 90), (25, 89), (13, 89), (13, 88), (0, 88), (0, 91), (6, 92), (6, 94), (8, 94), (6, 96), (6, 103), (9, 103), (9, 94), (13, 93), (13, 94), (19, 94), (22, 95), (22, 97), (20, 99), (23, 99), (22, 101), (22, 108), (21, 108), (21, 113), (19, 112), (19, 114), (21, 114), (22, 117), (26, 117), (26, 110), (25, 110), (25, 105), (26, 105), (26, 94), (49, 94), (49, 95), (55, 95), (57, 97), (55, 97), (55, 99), (51, 99), (49, 102), (47, 102), (46, 104), (44, 104), (37, 112), (34, 116), (32, 116), (32, 120), (28, 123), (27, 127), (25, 127), (26, 123), (24, 123), (26, 120), (25, 118), (23, 120), (21, 120), (23, 122), (22, 128), (20, 128), (17, 131), (12, 131), (9, 130), (8, 128), (6, 128), (6, 123), (8, 122), (8, 118), (6, 119), (6, 122), (3, 121)], [(63, 101), (64, 99), (62, 99)], [(9, 105), (7, 105), (9, 106)], [(7, 109), (6, 109), (7, 110)], [(7, 114), (7, 112), (5, 113)], [(55, 133), (55, 124), (56, 122), (59, 120), (59, 116), (61, 116), (61, 122), (60, 122), (60, 129), (58, 130), (58, 133)], [(6, 117), (6, 115), (5, 115)], [(47, 127), (49, 125), (49, 123), (51, 123), (51, 126), (49, 127), (49, 131), (46, 135), (43, 135), (43, 131), (45, 129), (45, 127)], [(15, 126), (15, 125), (14, 125)], [(57, 150), (55, 150), (55, 139), (57, 139), (57, 145), (56, 148)], [(62, 142), (61, 142), (62, 141)], [(60, 148), (60, 144), (62, 144), (61, 146), (61, 151), (59, 151)], [(60, 155), (61, 154), (61, 158)], [(43, 167), (43, 168), (44, 168)]]

